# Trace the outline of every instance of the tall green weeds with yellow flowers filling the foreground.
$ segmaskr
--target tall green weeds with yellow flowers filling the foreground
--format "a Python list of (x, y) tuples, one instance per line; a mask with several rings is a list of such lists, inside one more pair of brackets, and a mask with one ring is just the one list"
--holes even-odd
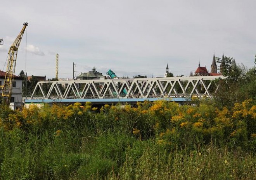
[(0, 110), (0, 179), (255, 179), (256, 105)]

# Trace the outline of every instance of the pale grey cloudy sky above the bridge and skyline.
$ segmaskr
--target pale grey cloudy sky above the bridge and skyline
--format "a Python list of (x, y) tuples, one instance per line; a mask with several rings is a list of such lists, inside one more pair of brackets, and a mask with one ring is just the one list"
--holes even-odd
[(0, 70), (24, 32), (15, 74), (73, 78), (93, 67), (103, 75), (163, 77), (198, 67), (213, 54), (254, 66), (255, 0), (1, 0)]

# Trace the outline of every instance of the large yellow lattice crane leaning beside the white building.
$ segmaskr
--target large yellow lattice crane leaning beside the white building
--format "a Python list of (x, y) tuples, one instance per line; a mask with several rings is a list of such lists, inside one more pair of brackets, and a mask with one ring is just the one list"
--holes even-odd
[(3, 102), (6, 103), (7, 105), (10, 104), (10, 98), (12, 97), (12, 78), (14, 77), (14, 73), (15, 73), (17, 51), (27, 26), (28, 26), (28, 23), (24, 22), (21, 32), (16, 37), (15, 41), (12, 43), (12, 46), (10, 46), (10, 50), (8, 53), (8, 64), (6, 68), (5, 80), (3, 85), (0, 86), (0, 90), (2, 90)]

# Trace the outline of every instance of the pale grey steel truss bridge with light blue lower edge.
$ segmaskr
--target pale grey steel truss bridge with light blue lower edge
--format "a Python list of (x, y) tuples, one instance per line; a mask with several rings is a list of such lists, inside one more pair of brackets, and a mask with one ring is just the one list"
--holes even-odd
[(185, 102), (191, 97), (212, 97), (216, 79), (223, 76), (136, 78), (38, 82), (26, 103), (93, 104), (136, 103), (159, 99)]

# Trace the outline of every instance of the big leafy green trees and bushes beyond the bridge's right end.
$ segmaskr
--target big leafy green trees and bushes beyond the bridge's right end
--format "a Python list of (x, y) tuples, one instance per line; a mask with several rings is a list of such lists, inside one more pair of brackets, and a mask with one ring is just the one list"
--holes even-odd
[(244, 65), (232, 64), (233, 58), (225, 57), (222, 75), (215, 100), (220, 106), (232, 108), (235, 103), (251, 98), (256, 102), (256, 68), (247, 70)]

